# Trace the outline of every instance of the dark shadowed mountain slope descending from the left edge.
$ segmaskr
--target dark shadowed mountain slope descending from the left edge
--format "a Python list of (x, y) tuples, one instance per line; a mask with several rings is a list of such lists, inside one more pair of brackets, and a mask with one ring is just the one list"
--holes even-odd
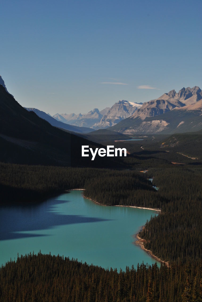
[(81, 157), (81, 146), (96, 143), (51, 126), (33, 111), (27, 111), (0, 85), (0, 161), (63, 165), (122, 166), (121, 160)]

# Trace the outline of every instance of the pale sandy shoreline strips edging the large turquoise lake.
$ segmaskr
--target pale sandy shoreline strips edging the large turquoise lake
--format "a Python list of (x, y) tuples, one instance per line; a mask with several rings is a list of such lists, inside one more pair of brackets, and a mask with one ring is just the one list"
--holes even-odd
[[(74, 191), (74, 190), (85, 191), (85, 189), (72, 189), (72, 190), (68, 190), (68, 191)], [(97, 202), (97, 201), (95, 201), (95, 200), (93, 200), (91, 198), (88, 198), (86, 196), (84, 196), (84, 198), (89, 199), (89, 200), (95, 202), (96, 204), (99, 204), (100, 206), (105, 206), (105, 207), (108, 206), (106, 204), (100, 204), (99, 202)], [(133, 207), (133, 208), (138, 208), (138, 209), (146, 209), (146, 210), (153, 210), (153, 211), (161, 212), (160, 209), (153, 209), (153, 208), (146, 208), (146, 207), (122, 206), (122, 205), (114, 205), (114, 206), (111, 206), (111, 207)], [(153, 259), (155, 259), (155, 260), (157, 260), (159, 262), (165, 263), (167, 266), (169, 266), (169, 262), (161, 260), (160, 258), (158, 258), (157, 256), (155, 256), (149, 249), (146, 249), (144, 247), (145, 240), (140, 238), (139, 233), (137, 233), (136, 235), (134, 235), (134, 237), (135, 236), (137, 238), (137, 240), (134, 242), (135, 244), (139, 245), (141, 247), (141, 249), (143, 249), (145, 252), (147, 252), (147, 254), (150, 255), (150, 257), (152, 257)]]

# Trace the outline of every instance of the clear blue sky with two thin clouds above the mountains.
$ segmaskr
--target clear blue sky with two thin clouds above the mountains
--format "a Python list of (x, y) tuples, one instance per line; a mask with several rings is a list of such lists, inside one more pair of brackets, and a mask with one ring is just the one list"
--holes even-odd
[(22, 106), (50, 114), (202, 88), (201, 11), (201, 0), (2, 1), (0, 74)]

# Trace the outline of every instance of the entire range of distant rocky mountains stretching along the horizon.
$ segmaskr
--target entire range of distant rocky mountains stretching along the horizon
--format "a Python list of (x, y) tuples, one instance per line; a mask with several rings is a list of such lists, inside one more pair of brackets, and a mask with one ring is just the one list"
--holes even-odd
[[(1, 76), (0, 86), (8, 93)], [(55, 114), (52, 117), (36, 108), (26, 109), (35, 112), (52, 126), (80, 134), (93, 134), (93, 131), (100, 129), (128, 136), (202, 130), (202, 91), (198, 86), (183, 87), (178, 92), (173, 89), (144, 104), (120, 100), (111, 108), (102, 111), (95, 108), (87, 114)], [(107, 133), (105, 131), (104, 136)]]

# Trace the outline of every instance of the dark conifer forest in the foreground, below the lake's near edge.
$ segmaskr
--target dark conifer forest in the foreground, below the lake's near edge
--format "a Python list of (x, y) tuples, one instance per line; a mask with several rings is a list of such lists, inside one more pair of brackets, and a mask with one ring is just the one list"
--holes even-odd
[(29, 254), (0, 269), (0, 301), (201, 302), (202, 262), (174, 263), (125, 272), (62, 256)]

